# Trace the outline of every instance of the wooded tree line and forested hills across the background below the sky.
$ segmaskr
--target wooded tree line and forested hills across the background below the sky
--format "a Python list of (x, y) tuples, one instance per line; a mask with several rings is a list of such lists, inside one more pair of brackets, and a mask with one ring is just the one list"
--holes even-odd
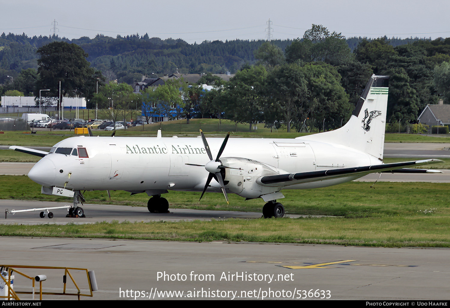
[[(49, 40), (54, 41), (47, 44)], [(62, 95), (85, 96), (90, 107), (107, 106), (114, 101), (112, 96), (125, 91), (128, 94), (115, 99), (117, 107), (120, 100), (133, 101), (134, 108), (137, 102), (147, 100), (149, 104), (144, 106), (153, 106), (151, 112), (169, 118), (226, 117), (249, 123), (249, 127), (263, 121), (297, 130), (303, 124), (332, 129), (347, 121), (372, 73), (391, 76), (388, 121), (414, 122), (427, 104), (439, 98), (450, 102), (450, 38), (411, 38), (403, 45), (401, 40), (387, 37), (359, 38), (355, 47), (354, 38), (312, 25), (302, 38), (293, 41), (187, 44), (137, 34), (72, 41), (57, 36), (1, 35), (1, 94), (16, 90), (29, 95), (50, 89), (45, 96), (58, 96), (62, 82)], [(33, 59), (36, 68), (31, 65)], [(69, 65), (49, 66), (62, 59)], [(229, 82), (211, 74), (199, 81), (216, 86), (211, 91), (169, 82), (161, 89), (150, 88), (139, 97), (131, 97), (133, 89), (121, 82), (140, 80), (149, 70), (217, 73), (229, 69), (236, 73)], [(113, 83), (105, 83), (116, 79), (111, 77), (120, 77), (116, 90)], [(179, 93), (172, 93), (173, 89)]]

